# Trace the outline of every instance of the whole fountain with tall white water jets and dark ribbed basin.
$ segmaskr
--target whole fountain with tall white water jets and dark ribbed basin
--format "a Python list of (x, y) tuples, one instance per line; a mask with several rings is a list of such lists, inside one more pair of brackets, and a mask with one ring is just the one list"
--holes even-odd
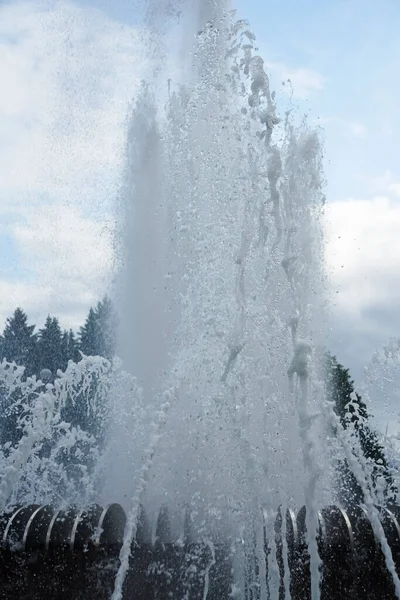
[[(127, 134), (122, 363), (83, 357), (53, 383), (0, 365), (21, 419), (0, 596), (400, 598), (399, 509), (378, 507), (324, 391), (318, 132), (279, 118), (247, 22), (181, 4), (181, 72), (159, 60)], [(362, 507), (336, 505), (339, 459)]]

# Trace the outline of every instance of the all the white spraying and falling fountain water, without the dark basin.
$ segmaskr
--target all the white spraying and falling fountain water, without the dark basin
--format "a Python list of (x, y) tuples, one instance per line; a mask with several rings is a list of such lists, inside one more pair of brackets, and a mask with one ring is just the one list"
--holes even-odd
[[(250, 547), (279, 506), (305, 504), (316, 600), (318, 507), (330, 503), (339, 453), (364, 490), (400, 598), (367, 468), (324, 397), (319, 134), (305, 118), (279, 113), (250, 26), (228, 3), (165, 0), (148, 9), (148, 55), (159, 60), (130, 115), (117, 202), (122, 364), (84, 357), (47, 386), (1, 365), (4, 389), (19, 390), (24, 436), (3, 449), (0, 509), (123, 504), (112, 597), (120, 600), (141, 504), (154, 516), (168, 505), (178, 529), (190, 507), (211, 552), (220, 534)], [(94, 380), (103, 384), (93, 395)], [(88, 418), (107, 424), (101, 445), (64, 419), (68, 402), (85, 394)], [(74, 476), (60, 459), (66, 453)], [(263, 551), (256, 540), (254, 552)], [(278, 597), (273, 549), (268, 561)], [(286, 572), (289, 598), (288, 581)], [(240, 568), (232, 597), (245, 598)]]

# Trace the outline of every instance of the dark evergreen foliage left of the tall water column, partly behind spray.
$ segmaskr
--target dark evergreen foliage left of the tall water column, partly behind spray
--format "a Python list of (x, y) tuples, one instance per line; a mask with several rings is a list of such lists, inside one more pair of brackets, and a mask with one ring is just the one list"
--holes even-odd
[[(105, 297), (96, 308), (89, 310), (78, 336), (72, 330), (62, 330), (59, 320), (49, 315), (42, 329), (35, 332), (35, 325), (28, 324), (24, 311), (17, 308), (7, 319), (3, 335), (0, 336), (0, 361), (15, 362), (25, 367), (25, 377), (36, 375), (40, 378), (43, 369), (51, 372), (54, 381), (59, 370), (65, 371), (68, 361), (79, 362), (82, 354), (102, 356), (111, 360), (115, 354), (116, 314), (109, 298)], [(102, 436), (102, 409), (95, 417), (90, 410), (91, 400), (96, 393), (97, 383), (82, 394), (81, 401), (67, 400), (63, 419), (73, 427), (94, 435)], [(6, 394), (0, 384), (0, 444), (11, 442), (14, 445), (21, 438), (19, 428), (21, 409), (18, 404), (18, 390), (12, 396)]]

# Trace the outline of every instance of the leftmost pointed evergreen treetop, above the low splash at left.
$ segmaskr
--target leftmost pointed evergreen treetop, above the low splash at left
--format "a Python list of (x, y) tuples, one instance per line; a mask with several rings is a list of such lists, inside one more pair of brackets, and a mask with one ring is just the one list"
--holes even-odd
[(17, 308), (6, 321), (1, 343), (1, 358), (24, 366), (27, 375), (36, 372), (37, 335), (34, 331), (35, 325), (28, 325), (27, 315)]

